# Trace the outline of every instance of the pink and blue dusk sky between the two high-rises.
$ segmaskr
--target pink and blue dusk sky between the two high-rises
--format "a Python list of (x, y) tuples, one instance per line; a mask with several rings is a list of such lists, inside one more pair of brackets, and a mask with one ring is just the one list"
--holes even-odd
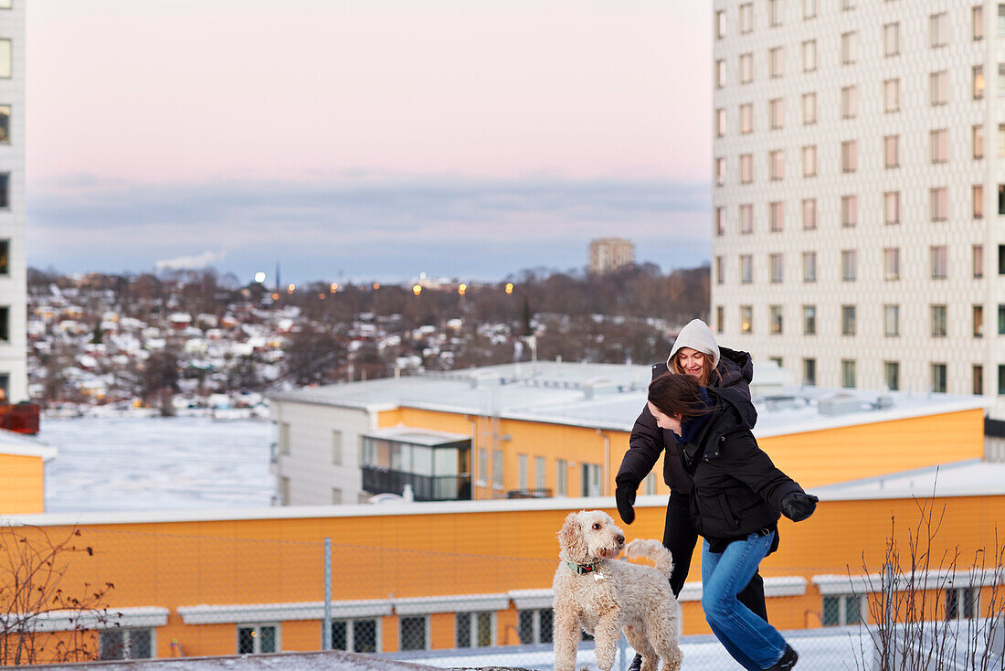
[(663, 270), (708, 263), (710, 16), (708, 1), (31, 5), (28, 263), (494, 280), (585, 268), (603, 236)]

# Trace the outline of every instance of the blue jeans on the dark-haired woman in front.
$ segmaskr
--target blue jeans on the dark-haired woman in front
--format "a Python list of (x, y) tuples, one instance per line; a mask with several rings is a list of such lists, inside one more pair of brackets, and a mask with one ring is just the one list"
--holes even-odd
[(768, 669), (782, 659), (785, 639), (774, 627), (740, 603), (737, 594), (751, 581), (768, 554), (775, 532), (752, 533), (729, 544), (723, 552), (701, 545), (701, 608), (716, 638), (748, 671)]

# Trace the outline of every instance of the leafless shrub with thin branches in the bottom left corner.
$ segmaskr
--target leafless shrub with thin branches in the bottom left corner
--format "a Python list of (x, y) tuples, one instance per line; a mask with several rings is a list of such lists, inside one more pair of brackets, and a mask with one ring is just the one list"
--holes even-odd
[[(106, 626), (112, 582), (64, 585), (69, 562), (93, 555), (79, 529), (53, 538), (36, 526), (0, 526), (0, 665), (97, 659), (95, 626)], [(75, 596), (74, 596), (75, 595)], [(64, 621), (55, 636), (43, 623)]]

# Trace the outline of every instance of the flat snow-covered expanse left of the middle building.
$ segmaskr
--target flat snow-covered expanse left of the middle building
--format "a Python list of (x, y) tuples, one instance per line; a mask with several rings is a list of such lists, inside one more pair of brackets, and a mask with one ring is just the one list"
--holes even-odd
[(210, 417), (43, 417), (46, 512), (268, 506), (272, 424)]

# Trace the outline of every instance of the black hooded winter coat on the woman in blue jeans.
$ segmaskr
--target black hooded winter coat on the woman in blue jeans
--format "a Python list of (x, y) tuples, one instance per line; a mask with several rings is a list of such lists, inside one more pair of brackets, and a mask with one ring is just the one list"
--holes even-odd
[(803, 489), (758, 447), (751, 401), (709, 388), (712, 413), (690, 443), (680, 444), (681, 467), (693, 482), (694, 528), (707, 539), (731, 539), (775, 526), (782, 499)]

